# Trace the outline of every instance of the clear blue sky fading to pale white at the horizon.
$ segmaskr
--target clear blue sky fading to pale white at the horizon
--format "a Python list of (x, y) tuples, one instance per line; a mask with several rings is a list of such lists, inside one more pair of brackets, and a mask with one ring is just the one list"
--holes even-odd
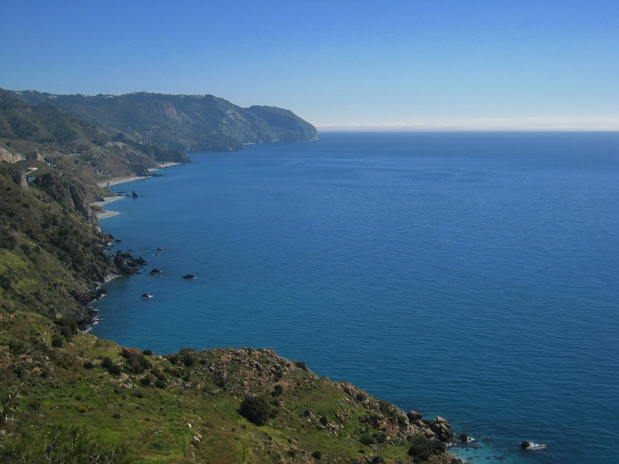
[(2, 2), (0, 87), (212, 93), (331, 129), (619, 130), (619, 1)]

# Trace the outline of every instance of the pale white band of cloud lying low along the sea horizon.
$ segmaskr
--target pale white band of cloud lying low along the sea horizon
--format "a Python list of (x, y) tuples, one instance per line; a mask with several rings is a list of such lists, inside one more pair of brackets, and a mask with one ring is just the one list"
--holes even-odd
[(323, 132), (617, 132), (619, 118), (483, 118), (315, 124)]

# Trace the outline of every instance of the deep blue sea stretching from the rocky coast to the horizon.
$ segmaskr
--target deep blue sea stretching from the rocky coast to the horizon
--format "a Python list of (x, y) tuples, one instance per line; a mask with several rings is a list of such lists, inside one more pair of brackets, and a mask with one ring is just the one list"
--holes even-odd
[(112, 280), (96, 335), (274, 348), (448, 418), (474, 462), (619, 462), (619, 134), (248, 148), (115, 186), (143, 196), (108, 207), (113, 251), (165, 277)]

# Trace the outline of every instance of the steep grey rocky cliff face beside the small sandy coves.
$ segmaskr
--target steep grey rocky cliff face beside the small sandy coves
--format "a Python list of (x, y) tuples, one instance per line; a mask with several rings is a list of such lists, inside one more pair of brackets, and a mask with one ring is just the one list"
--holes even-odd
[(69, 174), (50, 172), (38, 176), (35, 183), (70, 213), (79, 214), (89, 223), (98, 225), (98, 219), (90, 204), (98, 200), (93, 189), (72, 178)]

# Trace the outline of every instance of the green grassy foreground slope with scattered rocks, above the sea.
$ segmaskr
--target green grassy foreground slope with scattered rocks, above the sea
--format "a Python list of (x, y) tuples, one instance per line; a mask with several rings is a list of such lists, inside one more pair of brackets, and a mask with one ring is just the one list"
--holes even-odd
[[(315, 450), (321, 452), (321, 462), (368, 462), (376, 456), (412, 462), (397, 426), (379, 431), (358, 420), (368, 412), (383, 414), (378, 401), (360, 390), (351, 397), (339, 384), (295, 367), (271, 350), (194, 352), (191, 367), (172, 364), (170, 356), (146, 356), (152, 371), (165, 376), (167, 387), (145, 387), (140, 379), (147, 374), (132, 371), (113, 342), (79, 333), (64, 348), (54, 348), (50, 342), (58, 326), (49, 319), (30, 312), (11, 317), (0, 311), (0, 316), (0, 346), (11, 351), (10, 364), (5, 361), (0, 368), (2, 383), (25, 381), (19, 420), (5, 439), (5, 460), (36, 462), (45, 454), (51, 424), (72, 423), (106, 440), (128, 442), (132, 455), (149, 463), (316, 462), (311, 456)], [(123, 366), (119, 376), (103, 369), (105, 356)], [(94, 367), (85, 369), (85, 361)], [(256, 362), (262, 372), (253, 367)], [(272, 369), (275, 363), (284, 371), (280, 379)], [(225, 382), (219, 374), (224, 370)], [(284, 390), (279, 401), (271, 395), (275, 384)], [(358, 393), (365, 400), (357, 400)], [(277, 415), (264, 426), (241, 417), (237, 410), (246, 394), (268, 398)], [(321, 426), (321, 416), (328, 428)], [(337, 431), (329, 431), (335, 426)], [(361, 445), (357, 440), (365, 429), (390, 437), (390, 443), (375, 449)], [(199, 442), (193, 441), (197, 434)], [(433, 462), (451, 458), (439, 455)]]

